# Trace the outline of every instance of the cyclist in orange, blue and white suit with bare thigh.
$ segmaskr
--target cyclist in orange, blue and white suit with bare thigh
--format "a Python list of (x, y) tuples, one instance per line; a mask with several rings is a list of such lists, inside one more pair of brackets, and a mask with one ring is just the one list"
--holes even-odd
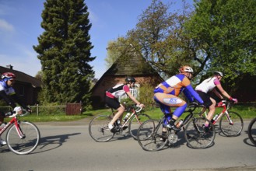
[[(204, 103), (191, 86), (190, 79), (192, 78), (193, 69), (190, 66), (182, 66), (179, 72), (179, 74), (170, 77), (154, 89), (154, 99), (156, 103), (160, 104), (160, 109), (165, 114), (165, 120), (163, 120), (163, 134), (166, 134), (166, 127), (172, 128), (174, 131), (181, 130), (181, 128), (176, 127), (174, 124), (187, 107), (187, 103), (184, 99), (178, 97), (181, 92), (184, 92), (184, 95), (191, 102), (193, 102), (195, 98), (199, 103)], [(194, 96), (194, 98), (192, 96)], [(170, 110), (171, 106), (177, 107), (173, 114)]]

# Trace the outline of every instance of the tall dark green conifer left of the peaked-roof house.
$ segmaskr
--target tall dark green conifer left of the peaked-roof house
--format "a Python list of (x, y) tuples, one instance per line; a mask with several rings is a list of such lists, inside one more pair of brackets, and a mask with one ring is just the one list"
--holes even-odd
[(89, 103), (89, 82), (94, 72), (88, 63), (95, 57), (90, 57), (92, 25), (87, 9), (83, 0), (44, 2), (44, 33), (33, 48), (42, 65), (42, 93), (47, 103)]

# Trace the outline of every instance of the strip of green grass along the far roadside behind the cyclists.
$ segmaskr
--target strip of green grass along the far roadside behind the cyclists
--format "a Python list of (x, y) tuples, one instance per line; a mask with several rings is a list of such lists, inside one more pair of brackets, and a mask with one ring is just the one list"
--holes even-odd
[[(172, 109), (174, 111), (175, 109)], [(217, 108), (216, 113), (220, 113), (222, 108)], [(255, 106), (233, 106), (230, 111), (237, 112), (240, 116), (246, 120), (256, 117), (256, 107)], [(65, 115), (65, 113), (48, 113), (47, 115), (41, 114), (40, 116), (36, 116), (36, 114), (32, 113), (25, 117), (20, 117), (20, 120), (28, 120), (31, 122), (49, 122), (49, 121), (73, 121), (73, 120), (81, 120), (84, 118), (88, 118), (89, 120), (96, 115), (99, 114), (109, 114), (111, 112), (110, 109), (103, 109), (103, 110), (89, 110), (83, 112), (80, 115)], [(142, 113), (146, 113), (149, 117), (154, 119), (160, 119), (163, 117), (163, 113), (161, 112), (160, 108), (154, 108), (152, 110), (143, 110)], [(187, 114), (184, 113), (180, 119), (184, 119)], [(9, 118), (5, 119), (5, 122), (9, 121)]]

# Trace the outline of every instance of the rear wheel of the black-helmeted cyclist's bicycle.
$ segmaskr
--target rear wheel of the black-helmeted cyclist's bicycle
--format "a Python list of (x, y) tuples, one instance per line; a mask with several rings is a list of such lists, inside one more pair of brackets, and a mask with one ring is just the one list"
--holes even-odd
[(89, 135), (97, 142), (106, 142), (114, 137), (107, 124), (112, 117), (106, 115), (96, 116), (89, 122)]

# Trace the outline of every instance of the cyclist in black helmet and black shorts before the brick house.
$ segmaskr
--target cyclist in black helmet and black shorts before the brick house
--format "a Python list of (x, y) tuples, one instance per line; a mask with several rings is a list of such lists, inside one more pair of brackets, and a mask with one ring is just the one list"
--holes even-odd
[(121, 120), (122, 115), (124, 113), (124, 106), (121, 103), (119, 103), (117, 99), (119, 96), (122, 96), (124, 95), (124, 93), (126, 93), (134, 103), (141, 107), (144, 107), (144, 104), (139, 103), (139, 101), (135, 99), (135, 97), (132, 96), (132, 93), (130, 92), (130, 88), (135, 87), (135, 82), (136, 80), (133, 77), (128, 76), (125, 79), (124, 84), (117, 84), (116, 86), (111, 87), (106, 91), (105, 103), (107, 104), (107, 106), (117, 110), (117, 113), (115, 113), (113, 119), (108, 124), (110, 131), (113, 133), (119, 131), (119, 127), (114, 127), (114, 123), (118, 118), (120, 118)]

